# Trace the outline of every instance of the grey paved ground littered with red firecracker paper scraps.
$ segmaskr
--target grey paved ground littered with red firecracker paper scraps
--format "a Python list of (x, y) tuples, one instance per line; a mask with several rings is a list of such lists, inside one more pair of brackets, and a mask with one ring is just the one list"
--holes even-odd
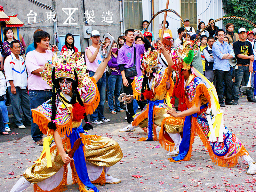
[[(252, 157), (256, 156), (254, 134), (256, 128), (256, 104), (249, 103), (246, 97), (240, 98), (237, 106), (227, 106), (225, 124), (244, 144)], [(139, 142), (144, 132), (136, 129), (132, 133), (120, 133), (118, 130), (127, 125), (125, 113), (111, 115), (105, 109), (106, 117), (111, 121), (94, 125), (91, 134), (97, 134), (116, 140), (123, 150), (122, 161), (110, 169), (109, 174), (122, 180), (120, 184), (97, 186), (102, 192), (194, 192), (194, 191), (256, 191), (256, 177), (246, 175), (244, 161), (234, 168), (223, 168), (215, 164), (205, 152), (199, 137), (193, 144), (189, 162), (170, 163), (158, 141)], [(24, 170), (33, 164), (43, 147), (35, 145), (30, 137), (30, 127), (20, 130), (12, 128), (14, 134), (0, 136), (0, 191), (10, 191)], [(157, 129), (159, 131), (160, 128)], [(18, 133), (18, 134), (17, 134)], [(9, 175), (8, 172), (14, 172)], [(68, 175), (68, 192), (78, 191), (78, 185), (71, 185), (71, 170)], [(132, 175), (142, 176), (135, 179)], [(32, 192), (33, 185), (26, 191)]]

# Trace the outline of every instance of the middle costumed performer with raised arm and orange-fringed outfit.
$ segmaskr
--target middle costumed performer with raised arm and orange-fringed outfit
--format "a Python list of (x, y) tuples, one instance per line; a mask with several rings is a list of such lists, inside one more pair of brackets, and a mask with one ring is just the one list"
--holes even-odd
[[(168, 103), (168, 98), (172, 95), (174, 86), (171, 79), (173, 61), (161, 42), (158, 48), (162, 50), (167, 60), (168, 68), (157, 67), (157, 52), (156, 50), (152, 52), (149, 50), (144, 53), (142, 60), (143, 76), (136, 77), (132, 83), (133, 97), (148, 101), (148, 105), (134, 116), (134, 121), (132, 122), (134, 126), (139, 125), (145, 132), (148, 132), (148, 137), (140, 138), (140, 141), (157, 140), (156, 127), (161, 126), (166, 117), (170, 117), (166, 112), (167, 105), (171, 106), (170, 101)], [(129, 98), (126, 98), (126, 100), (129, 100)], [(171, 137), (172, 135), (176, 136), (173, 133), (182, 132), (184, 123), (182, 120), (183, 118), (172, 125), (165, 124), (166, 130), (168, 130), (165, 133)], [(163, 142), (162, 135), (163, 133), (160, 132), (159, 142)], [(179, 136), (176, 139), (181, 140), (181, 137)], [(167, 142), (164, 143), (164, 146), (168, 151), (173, 150), (175, 147)]]

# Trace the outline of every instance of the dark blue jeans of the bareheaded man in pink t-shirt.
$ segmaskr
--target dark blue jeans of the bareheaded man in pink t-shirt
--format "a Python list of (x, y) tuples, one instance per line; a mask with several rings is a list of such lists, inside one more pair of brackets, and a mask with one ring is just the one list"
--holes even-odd
[(35, 142), (41, 140), (43, 133), (38, 128), (38, 125), (33, 122), (31, 109), (37, 108), (47, 100), (51, 99), (52, 91), (36, 91), (29, 90), (29, 106), (30, 106), (30, 117), (31, 117), (31, 137)]

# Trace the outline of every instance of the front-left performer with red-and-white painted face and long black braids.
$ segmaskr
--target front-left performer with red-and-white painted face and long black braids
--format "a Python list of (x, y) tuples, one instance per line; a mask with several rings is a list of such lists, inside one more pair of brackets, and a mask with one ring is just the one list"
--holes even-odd
[[(32, 109), (33, 119), (44, 138), (44, 149), (36, 164), (30, 166), (11, 192), (21, 192), (33, 183), (35, 192), (64, 191), (67, 185), (67, 164), (72, 169), (73, 184), (81, 192), (98, 192), (93, 184), (115, 184), (121, 180), (107, 175), (109, 168), (123, 157), (118, 143), (109, 138), (90, 135), (92, 128), (82, 119), (97, 108), (100, 98), (96, 82), (102, 76), (110, 56), (102, 61), (93, 77), (87, 76), (80, 53), (63, 52), (46, 64), (41, 76), (52, 86), (52, 99)], [(80, 92), (80, 93), (79, 93)], [(54, 138), (55, 143), (51, 144)], [(73, 159), (67, 154), (81, 138)], [(49, 148), (49, 145), (52, 145)]]

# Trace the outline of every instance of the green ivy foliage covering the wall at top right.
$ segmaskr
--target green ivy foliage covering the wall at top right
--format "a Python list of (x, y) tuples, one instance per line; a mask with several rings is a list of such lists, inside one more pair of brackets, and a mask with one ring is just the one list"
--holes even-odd
[[(252, 22), (256, 22), (256, 0), (222, 0), (223, 10), (226, 13), (224, 17), (236, 16), (243, 17)], [(246, 31), (252, 30), (254, 27), (246, 21), (230, 19), (223, 20), (223, 25), (227, 23), (233, 23), (235, 26), (235, 32), (241, 27), (246, 28)], [(226, 30), (226, 29), (225, 29)]]

